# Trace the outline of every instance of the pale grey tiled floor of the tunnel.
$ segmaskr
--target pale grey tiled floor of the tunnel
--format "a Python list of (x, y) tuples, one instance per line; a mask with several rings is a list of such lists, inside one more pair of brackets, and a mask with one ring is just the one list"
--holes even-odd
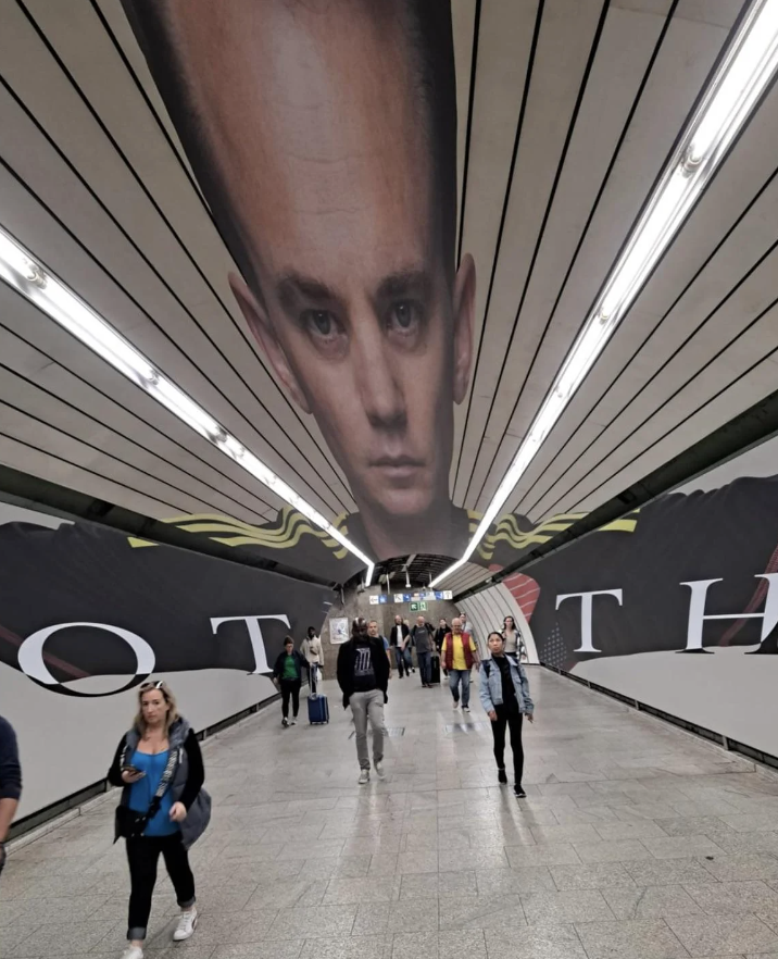
[[(497, 784), (491, 737), (446, 689), (394, 678), (386, 783), (356, 785), (349, 714), (269, 710), (209, 740), (214, 820), (193, 851), (201, 920), (147, 955), (187, 959), (778, 957), (778, 777), (534, 669), (529, 798)], [(476, 697), (477, 698), (477, 697)], [(455, 718), (457, 718), (455, 720)], [(109, 757), (106, 757), (108, 763)], [(0, 956), (116, 957), (127, 871), (113, 801), (15, 854)]]

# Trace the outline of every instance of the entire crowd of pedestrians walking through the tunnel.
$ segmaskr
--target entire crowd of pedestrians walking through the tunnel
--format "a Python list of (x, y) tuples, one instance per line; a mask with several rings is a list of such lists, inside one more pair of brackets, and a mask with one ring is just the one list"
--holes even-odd
[[(510, 734), (514, 793), (519, 799), (526, 797), (522, 784), (522, 727), (525, 718), (534, 722), (535, 706), (523, 665), (526, 645), (511, 616), (505, 618), (501, 631), (489, 634), (487, 647), (488, 656), (481, 656), (464, 615), (454, 616), (451, 625), (440, 619), (437, 628), (423, 615), (413, 625), (398, 615), (388, 637), (381, 634), (376, 620), (360, 616), (353, 621), (350, 638), (338, 650), (337, 682), (343, 708), (351, 711), (354, 724), (360, 785), (369, 783), (372, 771), (379, 780), (386, 779), (384, 707), (389, 680), (394, 669), (400, 677), (416, 672), (412, 655), (415, 649), (422, 687), (434, 688), (442, 669), (453, 708), (461, 707), (463, 712), (469, 712), (472, 672), (478, 671), (480, 702), (491, 721), (498, 782), (507, 784), (505, 744)], [(298, 721), (300, 690), (305, 682), (315, 698), (323, 671), (324, 647), (313, 627), (299, 649), (291, 636), (286, 637), (273, 667), (273, 681), (281, 694), (284, 726)], [(129, 869), (128, 944), (123, 959), (143, 959), (160, 857), (180, 910), (172, 938), (181, 943), (193, 935), (198, 910), (189, 850), (211, 818), (198, 737), (179, 713), (170, 686), (163, 681), (142, 684), (137, 708), (108, 772), (109, 783), (122, 790), (114, 840), (124, 840)], [(0, 873), (21, 793), (16, 737), (0, 717)]]

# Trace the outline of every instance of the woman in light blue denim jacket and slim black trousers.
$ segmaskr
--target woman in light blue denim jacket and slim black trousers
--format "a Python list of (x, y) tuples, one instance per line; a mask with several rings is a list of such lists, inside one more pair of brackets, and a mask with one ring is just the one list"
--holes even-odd
[(491, 659), (480, 665), (480, 700), (491, 720), (494, 737), (494, 759), (498, 780), (507, 783), (505, 773), (505, 728), (511, 731), (513, 751), (513, 792), (517, 798), (527, 794), (522, 786), (524, 774), (524, 748), (522, 746), (522, 717), (535, 722), (535, 705), (529, 696), (529, 683), (524, 667), (514, 653), (505, 651), (505, 640), (501, 633), (489, 634)]

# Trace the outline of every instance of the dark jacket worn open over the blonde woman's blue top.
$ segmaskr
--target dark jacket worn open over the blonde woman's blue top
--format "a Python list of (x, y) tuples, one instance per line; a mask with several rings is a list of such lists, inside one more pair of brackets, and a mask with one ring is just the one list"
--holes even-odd
[[(173, 790), (173, 801), (183, 802), (187, 808), (187, 818), (179, 825), (184, 845), (188, 849), (209, 824), (211, 797), (202, 788), (205, 782), (202, 752), (189, 723), (183, 718), (177, 719), (171, 726), (167, 738), (171, 750), (178, 753), (170, 788)], [(122, 806), (129, 806), (130, 790), (130, 786), (122, 780), (122, 767), (130, 761), (139, 742), (140, 733), (137, 728), (125, 733), (108, 772), (109, 783), (122, 787)]]

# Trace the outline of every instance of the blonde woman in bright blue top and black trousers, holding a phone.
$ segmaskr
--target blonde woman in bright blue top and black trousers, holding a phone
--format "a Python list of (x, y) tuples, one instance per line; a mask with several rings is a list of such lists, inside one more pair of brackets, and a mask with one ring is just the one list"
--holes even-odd
[(143, 683), (139, 711), (122, 737), (108, 780), (122, 786), (116, 839), (127, 843), (130, 895), (124, 959), (142, 959), (160, 855), (181, 910), (174, 942), (188, 939), (197, 926), (195, 877), (188, 850), (211, 818), (211, 798), (195, 731), (178, 713), (166, 683)]

